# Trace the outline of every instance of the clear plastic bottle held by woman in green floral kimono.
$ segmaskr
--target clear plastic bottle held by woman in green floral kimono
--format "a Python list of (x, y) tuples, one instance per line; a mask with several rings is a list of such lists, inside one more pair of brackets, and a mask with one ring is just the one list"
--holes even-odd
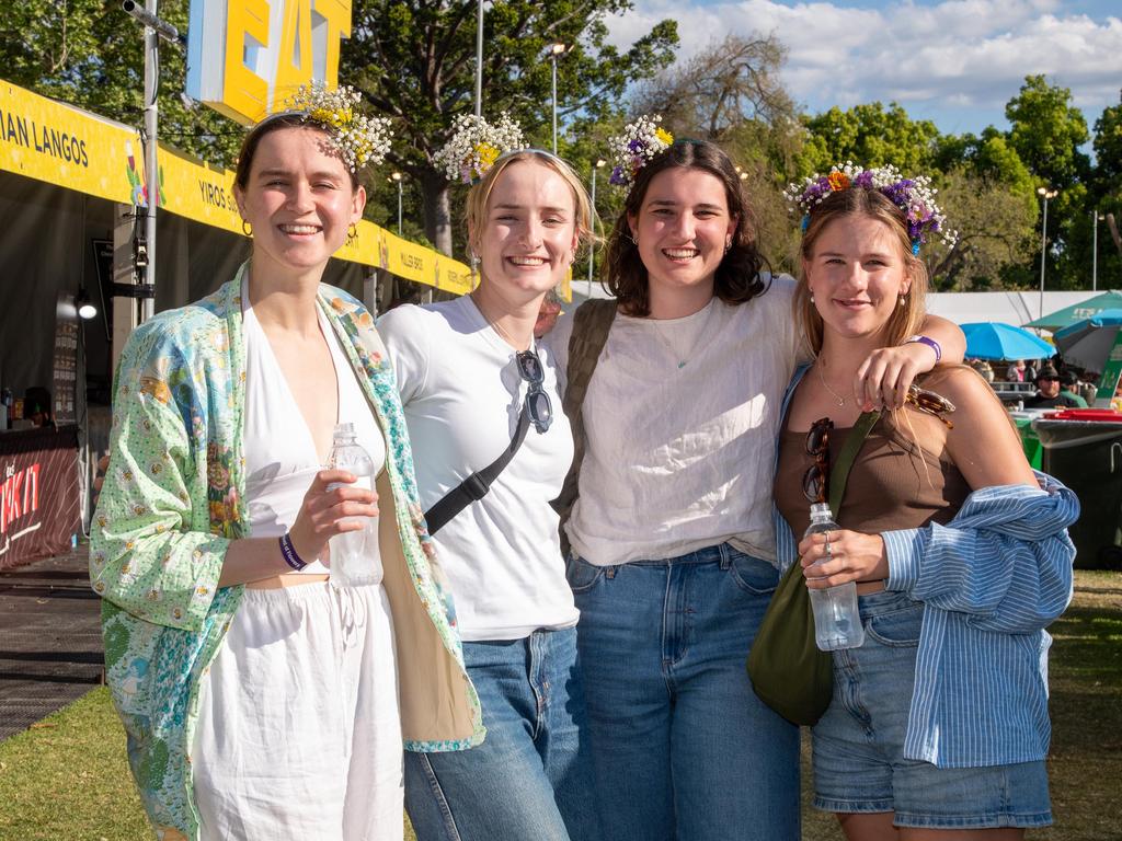
[[(355, 475), (355, 482), (335, 482), (335, 488), (374, 489), (374, 461), (369, 453), (355, 442), (355, 425), (335, 426), (328, 466), (346, 470)], [(381, 581), (381, 562), (378, 552), (378, 518), (362, 517), (362, 528), (343, 532), (331, 538), (331, 583), (335, 586), (377, 584)]]

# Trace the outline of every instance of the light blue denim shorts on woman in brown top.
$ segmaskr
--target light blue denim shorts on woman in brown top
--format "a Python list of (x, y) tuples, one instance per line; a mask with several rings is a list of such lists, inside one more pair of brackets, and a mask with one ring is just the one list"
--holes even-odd
[(834, 699), (813, 728), (815, 806), (894, 812), (898, 826), (984, 829), (1051, 823), (1043, 760), (938, 768), (905, 759), (922, 602), (861, 597), (865, 644), (834, 653)]

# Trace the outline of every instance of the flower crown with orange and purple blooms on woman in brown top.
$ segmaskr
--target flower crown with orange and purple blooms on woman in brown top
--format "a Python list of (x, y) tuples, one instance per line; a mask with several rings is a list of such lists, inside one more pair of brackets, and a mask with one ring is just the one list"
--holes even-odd
[(904, 178), (891, 165), (864, 169), (849, 160), (845, 166), (835, 164), (828, 175), (815, 174), (802, 184), (791, 184), (783, 191), (783, 195), (792, 209), (797, 207), (802, 213), (802, 230), (806, 231), (810, 213), (816, 206), (830, 193), (852, 187), (875, 190), (904, 212), (913, 255), (918, 255), (919, 247), (935, 233), (947, 246), (957, 242), (958, 233), (947, 229), (947, 219), (935, 202), (938, 191), (931, 187), (931, 179), (926, 175)]

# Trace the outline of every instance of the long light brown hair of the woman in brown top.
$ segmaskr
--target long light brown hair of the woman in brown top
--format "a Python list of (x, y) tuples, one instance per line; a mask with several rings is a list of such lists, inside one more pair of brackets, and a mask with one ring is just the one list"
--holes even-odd
[(802, 261), (799, 267), (799, 287), (794, 293), (794, 316), (802, 323), (807, 341), (817, 357), (822, 349), (822, 317), (810, 299), (810, 287), (807, 285), (807, 264), (815, 253), (815, 244), (826, 227), (845, 216), (865, 216), (883, 222), (892, 231), (900, 253), (903, 257), (904, 274), (911, 278), (908, 293), (903, 296), (903, 306), (893, 309), (885, 325), (884, 345), (892, 346), (903, 342), (908, 336), (918, 333), (927, 316), (925, 298), (927, 296), (927, 267), (912, 253), (911, 234), (901, 211), (892, 201), (875, 190), (849, 187), (830, 193), (810, 212), (810, 223), (802, 234)]

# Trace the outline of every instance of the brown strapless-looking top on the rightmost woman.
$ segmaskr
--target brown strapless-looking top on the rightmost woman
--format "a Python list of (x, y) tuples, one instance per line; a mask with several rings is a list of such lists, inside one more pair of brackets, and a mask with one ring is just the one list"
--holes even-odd
[[(830, 431), (831, 464), (850, 432), (852, 428)], [(797, 540), (810, 525), (810, 502), (802, 492), (802, 477), (813, 459), (807, 454), (806, 442), (807, 433), (791, 432), (784, 418), (775, 471), (775, 505)], [(865, 534), (919, 528), (932, 521), (946, 524), (969, 493), (971, 487), (945, 452), (936, 458), (917, 446), (910, 429), (907, 426), (900, 429), (893, 417), (885, 414), (854, 460), (842, 510), (834, 512), (834, 519), (843, 528)]]

